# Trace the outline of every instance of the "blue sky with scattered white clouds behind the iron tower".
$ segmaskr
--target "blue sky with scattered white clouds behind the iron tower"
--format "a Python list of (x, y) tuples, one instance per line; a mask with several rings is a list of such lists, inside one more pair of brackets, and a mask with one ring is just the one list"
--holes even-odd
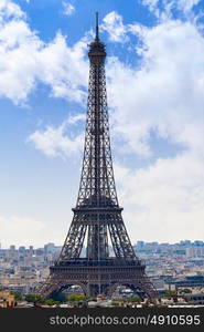
[(204, 0), (0, 0), (0, 243), (63, 245), (99, 12), (132, 243), (204, 240)]

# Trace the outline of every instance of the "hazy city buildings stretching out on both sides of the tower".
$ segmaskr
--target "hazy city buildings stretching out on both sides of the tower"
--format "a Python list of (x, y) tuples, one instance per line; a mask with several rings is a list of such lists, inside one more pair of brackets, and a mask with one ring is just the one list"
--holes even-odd
[[(138, 241), (133, 248), (146, 260), (147, 273), (160, 293), (182, 288), (200, 293), (204, 289), (204, 242)], [(0, 288), (22, 294), (34, 292), (49, 276), (49, 267), (60, 251), (61, 247), (54, 243), (36, 249), (33, 246), (0, 249)]]

